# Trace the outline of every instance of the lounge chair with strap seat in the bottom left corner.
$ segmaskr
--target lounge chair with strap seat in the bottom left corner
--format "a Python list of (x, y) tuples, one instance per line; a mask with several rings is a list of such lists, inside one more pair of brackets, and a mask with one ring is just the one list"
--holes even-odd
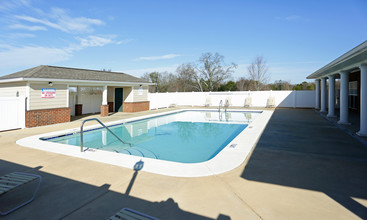
[(18, 187), (30, 183), (34, 180), (38, 179), (38, 184), (36, 189), (33, 192), (33, 196), (31, 199), (27, 200), (26, 202), (23, 202), (20, 205), (17, 205), (14, 208), (11, 208), (10, 210), (7, 211), (0, 211), (1, 215), (7, 215), (25, 205), (27, 205), (28, 203), (32, 202), (34, 197), (36, 196), (39, 186), (41, 184), (42, 181), (42, 177), (36, 174), (30, 174), (30, 173), (21, 173), (21, 172), (14, 172), (14, 173), (10, 173), (7, 175), (4, 175), (2, 177), (0, 177), (0, 196), (4, 196), (6, 193), (9, 193), (12, 190), (16, 190)]

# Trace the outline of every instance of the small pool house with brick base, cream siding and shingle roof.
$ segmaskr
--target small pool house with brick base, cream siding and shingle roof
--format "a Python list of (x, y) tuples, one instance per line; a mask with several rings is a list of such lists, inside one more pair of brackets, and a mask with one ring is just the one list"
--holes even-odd
[(70, 116), (149, 110), (144, 79), (120, 72), (41, 65), (0, 77), (0, 97), (24, 97), (25, 126), (70, 121)]

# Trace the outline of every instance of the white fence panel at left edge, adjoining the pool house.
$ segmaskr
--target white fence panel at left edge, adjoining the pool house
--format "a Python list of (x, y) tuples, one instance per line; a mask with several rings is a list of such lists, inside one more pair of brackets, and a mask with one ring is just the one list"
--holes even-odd
[(0, 97), (0, 131), (25, 127), (25, 98)]

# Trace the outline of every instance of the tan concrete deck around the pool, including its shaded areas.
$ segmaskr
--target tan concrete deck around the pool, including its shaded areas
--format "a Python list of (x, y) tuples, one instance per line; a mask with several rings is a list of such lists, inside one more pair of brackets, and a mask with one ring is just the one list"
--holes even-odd
[(249, 159), (207, 177), (134, 172), (15, 144), (77, 128), (85, 118), (0, 133), (0, 175), (20, 171), (43, 177), (32, 203), (1, 218), (106, 219), (124, 207), (161, 219), (367, 218), (367, 147), (314, 110), (275, 109)]

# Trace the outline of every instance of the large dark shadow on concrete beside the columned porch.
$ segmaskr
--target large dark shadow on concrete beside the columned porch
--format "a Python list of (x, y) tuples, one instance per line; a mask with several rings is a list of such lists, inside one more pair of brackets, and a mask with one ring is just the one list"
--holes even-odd
[(367, 219), (367, 149), (314, 110), (276, 109), (241, 177), (320, 191)]

